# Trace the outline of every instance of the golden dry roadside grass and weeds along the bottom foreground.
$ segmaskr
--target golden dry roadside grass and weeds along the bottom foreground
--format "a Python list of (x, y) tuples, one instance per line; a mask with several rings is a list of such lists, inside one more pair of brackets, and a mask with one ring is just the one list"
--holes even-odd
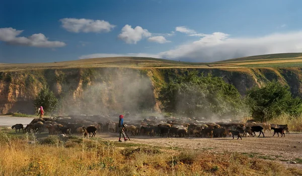
[[(0, 131), (1, 175), (297, 175), (298, 168), (236, 152), (172, 150), (57, 136), (28, 144)], [(47, 139), (47, 140), (45, 140)], [(118, 145), (118, 146), (117, 146)], [(122, 147), (121, 147), (122, 146)]]

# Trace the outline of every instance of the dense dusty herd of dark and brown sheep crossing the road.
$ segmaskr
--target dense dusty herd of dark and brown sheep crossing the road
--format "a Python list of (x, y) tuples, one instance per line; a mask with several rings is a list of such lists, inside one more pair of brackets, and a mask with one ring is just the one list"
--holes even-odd
[[(118, 116), (101, 116), (101, 115), (70, 115), (68, 117), (54, 117), (54, 118), (35, 118), (25, 128), (22, 124), (12, 126), (16, 132), (20, 129), (23, 132), (47, 132), (51, 135), (59, 134), (68, 136), (71, 134), (84, 135), (84, 137), (93, 137), (96, 132), (112, 132), (117, 133), (118, 130)], [(127, 121), (128, 120), (128, 121)], [(242, 137), (255, 136), (255, 132), (259, 132), (259, 136), (264, 132), (274, 130), (275, 133), (284, 135), (284, 131), (289, 133), (287, 125), (277, 125), (268, 123), (257, 123), (253, 120), (242, 123), (239, 121), (222, 120), (218, 122), (206, 122), (192, 120), (190, 118), (176, 119), (173, 117), (149, 117), (145, 119), (132, 120), (131, 117), (126, 117), (125, 132), (132, 136), (150, 137), (233, 137), (237, 139)], [(92, 136), (91, 136), (92, 133)], [(274, 136), (273, 135), (273, 136)], [(259, 137), (258, 136), (258, 137)]]

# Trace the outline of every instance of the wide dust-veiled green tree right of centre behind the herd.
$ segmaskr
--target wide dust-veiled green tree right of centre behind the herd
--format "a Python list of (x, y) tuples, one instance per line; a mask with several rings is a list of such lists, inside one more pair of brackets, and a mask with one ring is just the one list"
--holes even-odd
[(234, 85), (197, 71), (176, 77), (162, 87), (159, 98), (166, 112), (187, 116), (234, 116), (243, 105)]

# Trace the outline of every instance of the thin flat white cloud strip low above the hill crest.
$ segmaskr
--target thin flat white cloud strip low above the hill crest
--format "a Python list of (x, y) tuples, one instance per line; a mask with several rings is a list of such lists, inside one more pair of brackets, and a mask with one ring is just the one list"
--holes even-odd
[(95, 53), (82, 55), (80, 59), (89, 59), (89, 58), (100, 58), (100, 57), (154, 57), (159, 58), (157, 54), (147, 54), (147, 53), (127, 53), (127, 54), (107, 54), (107, 53)]

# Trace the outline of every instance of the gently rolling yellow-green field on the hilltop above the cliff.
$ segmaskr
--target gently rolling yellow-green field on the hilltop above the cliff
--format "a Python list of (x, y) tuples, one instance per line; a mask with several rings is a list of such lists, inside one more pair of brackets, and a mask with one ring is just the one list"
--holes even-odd
[(0, 71), (78, 68), (78, 67), (128, 67), (128, 68), (241, 68), (241, 67), (300, 67), (302, 53), (282, 53), (249, 56), (209, 63), (180, 62), (147, 57), (106, 57), (79, 59), (51, 63), (0, 63)]

